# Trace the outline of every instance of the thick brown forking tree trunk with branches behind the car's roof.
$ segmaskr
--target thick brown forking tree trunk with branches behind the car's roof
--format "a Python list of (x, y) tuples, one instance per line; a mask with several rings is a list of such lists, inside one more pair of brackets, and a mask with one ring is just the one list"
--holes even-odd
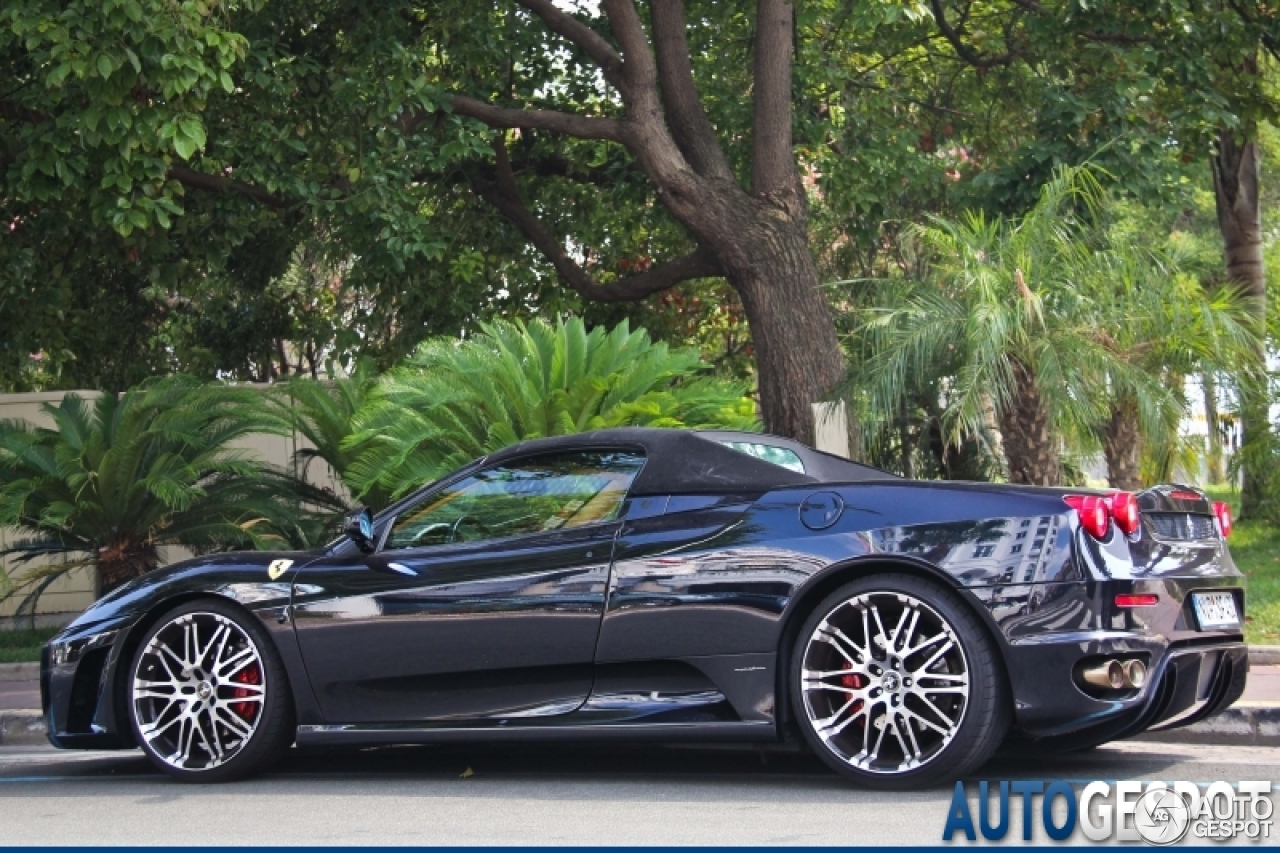
[[(685, 257), (602, 284), (566, 251), (520, 197), (506, 134), (494, 141), (495, 181), (476, 191), (524, 232), (581, 296), (631, 301), (695, 278), (723, 275), (742, 300), (755, 347), (760, 415), (771, 433), (814, 441), (813, 403), (844, 378), (836, 324), (819, 291), (808, 245), (808, 199), (791, 136), (795, 10), (786, 0), (756, 0), (751, 73), (751, 186), (745, 190), (724, 155), (694, 82), (682, 0), (652, 0), (646, 29), (632, 0), (600, 0), (616, 46), (549, 0), (518, 0), (575, 42), (621, 97), (620, 118), (558, 110), (520, 110), (461, 95), (454, 113), (493, 128), (553, 131), (625, 146), (663, 206), (694, 238)], [(416, 127), (428, 115), (407, 119)]]

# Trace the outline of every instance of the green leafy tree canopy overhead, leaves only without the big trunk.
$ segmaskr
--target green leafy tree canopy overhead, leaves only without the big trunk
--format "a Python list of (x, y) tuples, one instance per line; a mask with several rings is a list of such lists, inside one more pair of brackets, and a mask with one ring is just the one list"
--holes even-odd
[[(499, 138), (520, 197), (594, 282), (687, 250), (643, 164), (558, 132), (548, 110), (618, 115), (596, 61), (618, 42), (604, 12), (548, 26), (549, 5), (5, 4), (4, 382), (65, 371), (123, 388), (174, 366), (270, 379), (358, 352), (389, 364), (494, 314), (598, 310), (477, 192), (498, 186)], [(755, 4), (677, 12), (705, 120), (750, 183)], [(1174, 0), (803, 5), (791, 100), (815, 255), (829, 277), (867, 272), (883, 222), (1016, 214), (1055, 164), (1098, 151), (1133, 192), (1176, 197), (1217, 128), (1271, 117), (1242, 64), (1270, 15)], [(485, 122), (511, 117), (484, 105), (543, 110), (545, 127), (495, 136)], [(687, 122), (667, 123), (678, 136)]]

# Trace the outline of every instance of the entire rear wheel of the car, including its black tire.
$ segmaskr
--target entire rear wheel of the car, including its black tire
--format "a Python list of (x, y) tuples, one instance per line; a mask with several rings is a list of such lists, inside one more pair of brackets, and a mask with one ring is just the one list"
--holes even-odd
[(869, 575), (827, 596), (796, 637), (788, 681), (809, 747), (881, 790), (966, 775), (996, 752), (1012, 716), (977, 615), (911, 575)]

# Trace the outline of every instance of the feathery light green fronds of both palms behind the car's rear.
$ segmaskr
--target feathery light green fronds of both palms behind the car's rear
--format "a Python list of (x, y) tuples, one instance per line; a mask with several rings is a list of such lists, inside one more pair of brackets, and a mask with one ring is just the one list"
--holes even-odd
[(877, 283), (859, 313), (851, 384), (873, 443), (923, 398), (941, 401), (952, 446), (989, 447), (1025, 368), (1055, 441), (1097, 447), (1132, 400), (1144, 434), (1167, 444), (1187, 411), (1181, 380), (1247, 364), (1256, 341), (1239, 297), (1206, 292), (1178, 274), (1176, 257), (1121, 233), (1108, 241), (1105, 201), (1094, 172), (1062, 169), (1025, 216), (972, 213), (913, 229), (923, 274)]

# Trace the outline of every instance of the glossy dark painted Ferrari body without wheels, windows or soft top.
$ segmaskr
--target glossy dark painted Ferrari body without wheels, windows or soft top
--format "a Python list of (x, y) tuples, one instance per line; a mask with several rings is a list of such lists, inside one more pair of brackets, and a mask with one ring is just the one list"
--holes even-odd
[[(650, 466), (664, 444), (646, 443), (648, 432), (626, 430), (618, 447), (639, 446), (645, 471), (660, 473)], [(580, 446), (607, 448), (609, 434)], [(575, 530), (372, 555), (338, 543), (156, 573), (51, 644), (51, 740), (128, 745), (122, 660), (147, 619), (201, 594), (262, 619), (306, 743), (777, 738), (788, 626), (840, 583), (883, 571), (934, 578), (974, 608), (1002, 654), (1025, 736), (1181, 724), (1243, 689), (1240, 633), (1199, 630), (1189, 605), (1193, 592), (1230, 589), (1243, 616), (1243, 579), (1216, 535), (1171, 539), (1144, 524), (1098, 542), (1062, 501), (1075, 489), (887, 476), (753, 488), (762, 484), (741, 471), (719, 478), (732, 487), (663, 491), (669, 482), (650, 476), (620, 521)], [(1139, 506), (1211, 515), (1202, 496), (1179, 492), (1188, 489), (1146, 492)], [(396, 511), (376, 520), (379, 535)], [(276, 558), (296, 565), (273, 581), (266, 566)], [(1155, 593), (1158, 605), (1116, 607), (1128, 592)], [(1082, 661), (1117, 654), (1148, 662), (1142, 690), (1100, 698), (1076, 686)]]

